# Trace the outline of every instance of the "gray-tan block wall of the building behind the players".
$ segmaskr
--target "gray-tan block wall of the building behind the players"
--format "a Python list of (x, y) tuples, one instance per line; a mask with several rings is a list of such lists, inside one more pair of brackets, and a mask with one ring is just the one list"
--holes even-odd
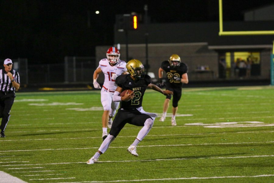
[[(209, 50), (207, 43), (175, 43), (175, 44), (149, 44), (149, 72), (153, 72), (158, 78), (158, 69), (164, 60), (168, 60), (172, 54), (178, 54), (181, 61), (188, 65), (188, 76), (191, 80), (215, 79), (218, 77), (218, 54)], [(109, 46), (96, 47), (97, 65), (102, 58), (106, 58), (105, 52)], [(121, 60), (126, 59), (125, 45), (121, 45)], [(129, 59), (139, 59), (146, 63), (146, 47), (144, 44), (128, 45)], [(125, 60), (126, 61), (126, 60)], [(195, 72), (198, 65), (208, 65), (214, 73), (201, 76)], [(104, 82), (103, 76), (98, 78), (99, 82)]]

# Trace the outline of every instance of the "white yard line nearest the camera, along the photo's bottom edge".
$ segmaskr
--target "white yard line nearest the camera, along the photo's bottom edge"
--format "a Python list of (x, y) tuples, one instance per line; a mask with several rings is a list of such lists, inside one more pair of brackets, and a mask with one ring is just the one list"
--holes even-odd
[[(253, 175), (253, 176), (222, 176), (222, 177), (181, 177), (181, 178), (157, 178), (157, 179), (135, 179), (135, 180), (115, 180), (115, 181), (83, 181), (89, 183), (101, 183), (101, 182), (140, 182), (140, 181), (165, 181), (165, 180), (195, 180), (195, 179), (216, 179), (216, 178), (255, 178), (255, 177), (272, 177), (270, 175)], [(62, 183), (82, 183), (82, 182), (62, 182)]]

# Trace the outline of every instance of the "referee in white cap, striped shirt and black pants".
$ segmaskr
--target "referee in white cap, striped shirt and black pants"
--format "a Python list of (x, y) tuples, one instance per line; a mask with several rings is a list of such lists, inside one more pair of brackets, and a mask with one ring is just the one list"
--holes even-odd
[(12, 60), (5, 59), (4, 69), (0, 69), (0, 137), (5, 137), (5, 128), (9, 122), (9, 112), (15, 98), (15, 90), (20, 87), (20, 77), (16, 70), (12, 69)]

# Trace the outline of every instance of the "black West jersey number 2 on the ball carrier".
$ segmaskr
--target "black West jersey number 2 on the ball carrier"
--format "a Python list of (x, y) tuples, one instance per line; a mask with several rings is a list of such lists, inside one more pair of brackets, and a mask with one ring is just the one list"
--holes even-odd
[(133, 80), (130, 75), (122, 74), (118, 76), (115, 83), (124, 90), (134, 91), (134, 98), (129, 101), (121, 101), (120, 107), (123, 109), (135, 109), (142, 106), (143, 96), (146, 87), (151, 83), (149, 75), (145, 75), (143, 79)]

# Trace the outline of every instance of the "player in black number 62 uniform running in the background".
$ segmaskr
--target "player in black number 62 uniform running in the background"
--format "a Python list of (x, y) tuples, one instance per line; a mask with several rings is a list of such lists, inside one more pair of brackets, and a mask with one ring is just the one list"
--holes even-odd
[[(178, 55), (173, 54), (170, 56), (169, 60), (163, 61), (161, 67), (159, 68), (159, 81), (162, 83), (163, 71), (167, 74), (167, 81), (164, 83), (166, 89), (173, 91), (172, 99), (172, 117), (171, 125), (176, 126), (175, 116), (178, 110), (178, 102), (181, 99), (182, 95), (182, 86), (188, 84), (188, 66), (185, 63), (181, 62), (181, 59)], [(162, 84), (163, 85), (163, 84)], [(167, 95), (166, 100), (163, 104), (163, 115), (160, 118), (160, 121), (164, 121), (167, 115), (167, 109), (169, 107), (169, 102), (171, 95)]]

